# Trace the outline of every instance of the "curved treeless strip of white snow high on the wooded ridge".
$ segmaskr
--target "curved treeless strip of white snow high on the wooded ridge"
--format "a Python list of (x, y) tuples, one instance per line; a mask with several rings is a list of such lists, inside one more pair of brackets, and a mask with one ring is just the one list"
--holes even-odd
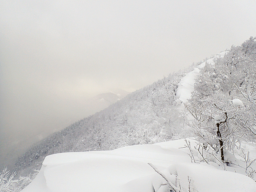
[[(178, 88), (176, 89), (176, 96), (181, 102), (188, 102), (188, 100), (191, 98), (191, 92), (194, 91), (194, 83), (195, 78), (200, 74), (200, 69), (205, 66), (206, 63), (209, 63), (211, 65), (215, 65), (214, 59), (215, 58), (223, 58), (224, 55), (228, 53), (228, 51), (223, 51), (216, 56), (214, 56), (211, 59), (208, 59), (206, 62), (201, 63), (196, 68), (194, 68), (193, 71), (186, 74), (178, 84)], [(176, 101), (177, 104), (180, 104), (179, 101)]]

